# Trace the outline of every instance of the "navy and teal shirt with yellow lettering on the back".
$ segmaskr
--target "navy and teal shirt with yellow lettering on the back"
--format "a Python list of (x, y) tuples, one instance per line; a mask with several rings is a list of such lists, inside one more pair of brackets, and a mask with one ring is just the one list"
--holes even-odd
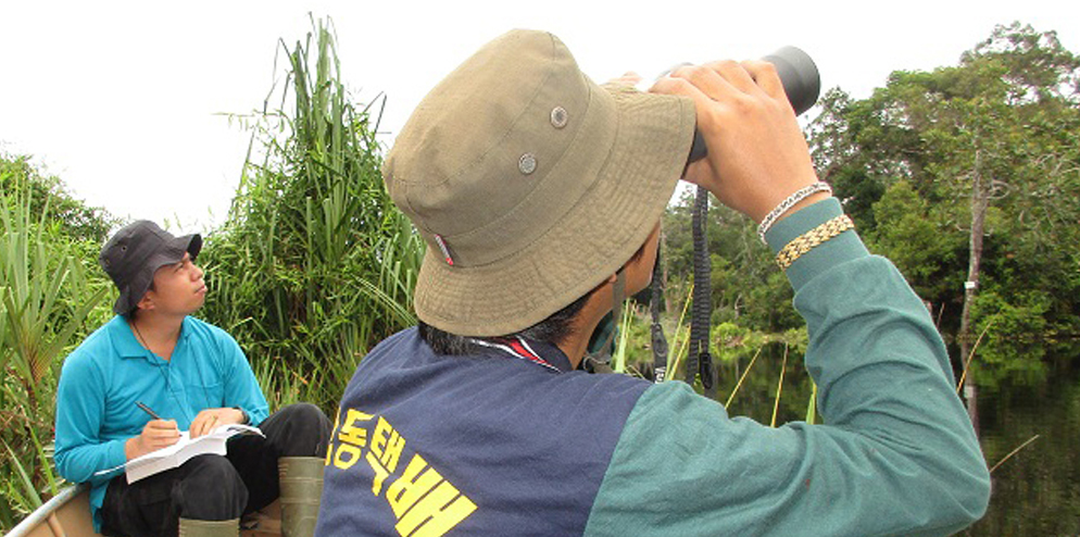
[[(774, 250), (841, 213), (793, 213)], [(989, 474), (922, 302), (854, 232), (789, 267), (824, 424), (730, 417), (680, 382), (575, 371), (554, 345), (376, 346), (337, 415), (319, 537), (949, 535)]]

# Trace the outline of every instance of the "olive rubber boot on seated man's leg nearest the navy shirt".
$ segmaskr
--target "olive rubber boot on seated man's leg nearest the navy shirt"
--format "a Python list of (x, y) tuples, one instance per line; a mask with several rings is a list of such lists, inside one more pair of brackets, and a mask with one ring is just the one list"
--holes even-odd
[(321, 457), (282, 457), (277, 460), (281, 488), (281, 537), (312, 537), (323, 497)]

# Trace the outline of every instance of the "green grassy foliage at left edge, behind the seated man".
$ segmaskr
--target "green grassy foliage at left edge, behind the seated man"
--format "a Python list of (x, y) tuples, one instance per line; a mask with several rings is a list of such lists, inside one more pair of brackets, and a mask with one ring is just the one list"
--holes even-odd
[[(60, 358), (86, 330), (108, 287), (91, 283), (74, 241), (36, 199), (26, 174), (3, 166), (0, 182), (0, 525), (40, 504), (55, 478), (39, 439), (52, 428), (52, 389)], [(33, 441), (28, 441), (33, 440)]]

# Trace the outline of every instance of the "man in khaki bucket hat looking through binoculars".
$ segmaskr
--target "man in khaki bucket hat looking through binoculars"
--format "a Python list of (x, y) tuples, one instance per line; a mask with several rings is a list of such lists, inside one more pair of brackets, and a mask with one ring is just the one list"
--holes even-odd
[[(649, 282), (695, 124), (708, 157), (687, 177), (778, 220), (821, 425), (577, 370)], [(819, 191), (769, 65), (685, 67), (645, 93), (511, 32), (428, 93), (384, 176), (427, 241), (420, 324), (346, 389), (316, 535), (946, 535), (985, 510), (941, 338)]]

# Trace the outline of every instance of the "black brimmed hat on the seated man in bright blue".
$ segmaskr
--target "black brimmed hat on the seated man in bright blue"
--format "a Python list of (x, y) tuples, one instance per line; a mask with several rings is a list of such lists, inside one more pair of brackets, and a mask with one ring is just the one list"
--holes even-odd
[(101, 249), (98, 261), (120, 289), (113, 312), (126, 314), (135, 310), (150, 289), (158, 268), (179, 263), (185, 253), (191, 259), (202, 250), (199, 234), (174, 237), (153, 222), (140, 220), (116, 232)]

